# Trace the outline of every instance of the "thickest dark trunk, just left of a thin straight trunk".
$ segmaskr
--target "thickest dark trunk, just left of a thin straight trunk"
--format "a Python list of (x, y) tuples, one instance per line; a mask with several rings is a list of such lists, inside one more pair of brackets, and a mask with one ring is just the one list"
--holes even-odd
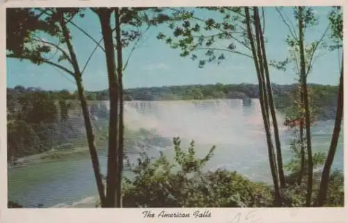
[(116, 199), (116, 191), (119, 188), (118, 178), (120, 171), (118, 157), (118, 82), (116, 77), (115, 51), (113, 45), (111, 29), (111, 10), (102, 8), (99, 12), (100, 23), (102, 26), (102, 35), (104, 37), (104, 49), (106, 56), (106, 67), (109, 79), (109, 97), (110, 97), (110, 116), (109, 116), (109, 153), (108, 170), (106, 178), (106, 207), (119, 207), (120, 203)]

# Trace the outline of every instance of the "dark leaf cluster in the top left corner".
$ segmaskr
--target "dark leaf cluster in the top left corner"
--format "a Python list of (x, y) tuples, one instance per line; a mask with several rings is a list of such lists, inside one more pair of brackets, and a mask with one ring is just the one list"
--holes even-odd
[[(10, 20), (7, 29), (7, 56), (17, 59), (29, 59), (40, 65), (50, 62), (58, 53), (58, 63), (68, 59), (61, 44), (65, 43), (60, 22), (69, 22), (81, 8), (15, 8), (8, 9)], [(42, 36), (50, 40), (43, 40)], [(71, 38), (71, 36), (70, 36)], [(55, 43), (56, 42), (56, 43)], [(66, 69), (65, 69), (66, 70)], [(69, 70), (68, 70), (69, 71)], [(71, 74), (71, 73), (70, 73)]]

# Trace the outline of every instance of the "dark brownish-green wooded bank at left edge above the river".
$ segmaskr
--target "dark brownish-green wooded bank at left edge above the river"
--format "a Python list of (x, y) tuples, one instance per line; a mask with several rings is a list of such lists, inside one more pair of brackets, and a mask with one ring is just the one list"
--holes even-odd
[(86, 146), (83, 132), (70, 120), (73, 104), (65, 100), (66, 94), (21, 86), (8, 89), (8, 160), (72, 144)]

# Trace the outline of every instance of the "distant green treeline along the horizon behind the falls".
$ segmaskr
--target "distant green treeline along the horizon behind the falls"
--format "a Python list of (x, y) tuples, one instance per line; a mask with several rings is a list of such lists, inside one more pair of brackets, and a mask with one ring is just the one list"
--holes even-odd
[[(319, 119), (330, 119), (335, 117), (336, 97), (338, 86), (309, 84), (312, 92), (312, 101), (317, 107), (316, 116)], [(292, 95), (296, 84), (273, 84), (274, 103), (280, 112), (287, 112), (294, 100)], [(8, 103), (18, 93), (42, 91), (41, 89), (16, 86), (7, 89)], [(77, 93), (68, 90), (46, 91), (54, 100), (78, 100)], [(88, 91), (88, 100), (109, 100), (109, 91)], [(161, 86), (150, 88), (125, 89), (125, 100), (207, 100), (207, 99), (248, 99), (258, 98), (257, 84), (207, 84), (207, 85), (185, 85), (185, 86)]]

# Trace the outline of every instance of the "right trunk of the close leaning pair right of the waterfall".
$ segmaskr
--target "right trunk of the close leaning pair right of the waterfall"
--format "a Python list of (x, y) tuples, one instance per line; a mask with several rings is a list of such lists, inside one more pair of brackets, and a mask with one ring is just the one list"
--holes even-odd
[[(263, 66), (264, 66), (264, 75), (266, 76), (266, 86), (267, 86), (267, 93), (268, 93), (268, 99), (269, 99), (269, 109), (271, 111), (271, 117), (273, 121), (273, 128), (274, 128), (274, 138), (276, 141), (276, 151), (277, 151), (277, 166), (278, 166), (278, 174), (279, 174), (279, 181), (280, 181), (280, 188), (285, 188), (285, 175), (284, 175), (284, 169), (283, 169), (283, 157), (282, 157), (282, 151), (280, 146), (280, 137), (279, 137), (279, 130), (278, 130), (278, 122), (276, 118), (276, 109), (274, 108), (274, 101), (273, 101), (273, 92), (272, 92), (272, 86), (271, 81), (269, 79), (269, 69), (268, 69), (268, 63), (267, 63), (267, 56), (266, 56), (266, 49), (264, 47), (264, 37), (262, 35), (262, 29), (260, 24), (260, 16), (258, 13), (258, 7), (254, 7), (255, 15), (258, 17), (258, 20), (255, 20), (256, 26), (258, 26), (258, 32), (256, 35), (260, 36), (260, 42), (261, 42), (261, 49), (263, 54)], [(265, 90), (266, 91), (266, 90)]]

